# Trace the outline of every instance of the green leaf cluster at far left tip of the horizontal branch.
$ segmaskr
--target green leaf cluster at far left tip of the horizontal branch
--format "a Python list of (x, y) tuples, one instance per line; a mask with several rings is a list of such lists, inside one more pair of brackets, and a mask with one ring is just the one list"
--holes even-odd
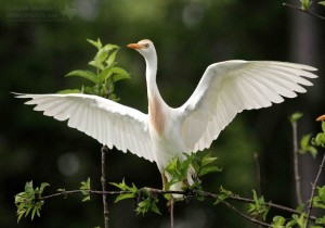
[(32, 187), (32, 181), (26, 182), (25, 191), (15, 195), (15, 204), (17, 206), (17, 221), (25, 215), (30, 213), (31, 220), (35, 215), (40, 216), (40, 210), (44, 204), (41, 195), (46, 187), (50, 186), (47, 182), (42, 182), (40, 187)]

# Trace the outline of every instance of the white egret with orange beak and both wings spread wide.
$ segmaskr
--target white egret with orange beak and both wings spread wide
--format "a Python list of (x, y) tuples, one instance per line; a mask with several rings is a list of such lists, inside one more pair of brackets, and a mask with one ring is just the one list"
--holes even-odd
[[(237, 113), (281, 103), (312, 86), (316, 68), (273, 61), (233, 60), (207, 67), (190, 99), (173, 109), (162, 100), (157, 84), (157, 55), (151, 40), (130, 43), (146, 62), (148, 114), (91, 94), (18, 94), (31, 99), (36, 111), (66, 121), (67, 125), (93, 137), (108, 148), (156, 162), (162, 181), (165, 167), (174, 156), (184, 159), (209, 148)], [(302, 85), (302, 86), (301, 86)], [(180, 185), (171, 187), (180, 190)]]

